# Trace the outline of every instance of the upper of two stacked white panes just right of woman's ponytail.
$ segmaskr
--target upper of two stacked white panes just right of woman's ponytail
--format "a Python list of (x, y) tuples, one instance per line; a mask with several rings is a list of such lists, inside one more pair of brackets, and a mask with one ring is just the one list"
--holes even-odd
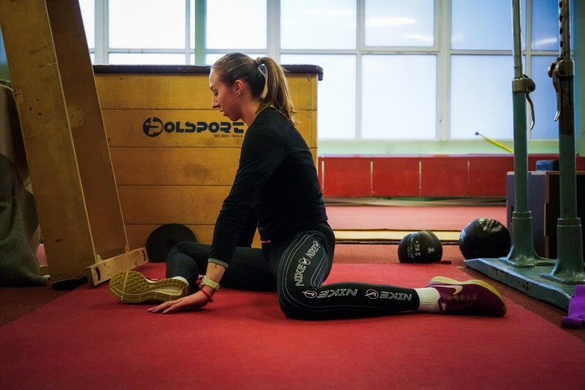
[(356, 0), (282, 0), (282, 49), (355, 49)]

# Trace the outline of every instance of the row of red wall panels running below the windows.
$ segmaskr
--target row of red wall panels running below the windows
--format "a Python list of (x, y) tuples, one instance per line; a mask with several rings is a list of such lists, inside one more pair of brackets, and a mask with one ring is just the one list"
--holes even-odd
[[(528, 169), (555, 159), (558, 154), (529, 154)], [(585, 157), (576, 165), (584, 171)], [(317, 171), (325, 196), (506, 196), (514, 156), (322, 156)]]

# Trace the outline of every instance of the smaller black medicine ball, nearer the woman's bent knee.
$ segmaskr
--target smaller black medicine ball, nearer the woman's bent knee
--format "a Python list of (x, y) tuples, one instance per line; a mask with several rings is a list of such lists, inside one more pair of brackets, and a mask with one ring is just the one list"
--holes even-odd
[(401, 263), (435, 263), (443, 256), (443, 246), (435, 233), (428, 230), (406, 234), (398, 244)]

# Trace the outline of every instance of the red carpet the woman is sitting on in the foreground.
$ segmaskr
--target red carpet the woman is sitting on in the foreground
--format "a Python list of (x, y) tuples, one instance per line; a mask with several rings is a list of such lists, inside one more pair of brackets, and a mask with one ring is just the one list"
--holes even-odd
[[(163, 275), (164, 264), (141, 269)], [(328, 282), (422, 286), (444, 264), (336, 264)], [(585, 344), (507, 301), (504, 318), (286, 319), (275, 295), (224, 289), (208, 308), (150, 314), (106, 284), (0, 328), (0, 389), (575, 389)]]

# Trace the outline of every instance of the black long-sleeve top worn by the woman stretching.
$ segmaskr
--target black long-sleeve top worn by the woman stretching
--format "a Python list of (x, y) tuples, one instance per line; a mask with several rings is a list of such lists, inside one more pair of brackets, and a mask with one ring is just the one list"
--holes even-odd
[(244, 135), (236, 179), (216, 220), (210, 262), (229, 266), (251, 208), (263, 244), (327, 220), (312, 154), (274, 108), (258, 113)]

